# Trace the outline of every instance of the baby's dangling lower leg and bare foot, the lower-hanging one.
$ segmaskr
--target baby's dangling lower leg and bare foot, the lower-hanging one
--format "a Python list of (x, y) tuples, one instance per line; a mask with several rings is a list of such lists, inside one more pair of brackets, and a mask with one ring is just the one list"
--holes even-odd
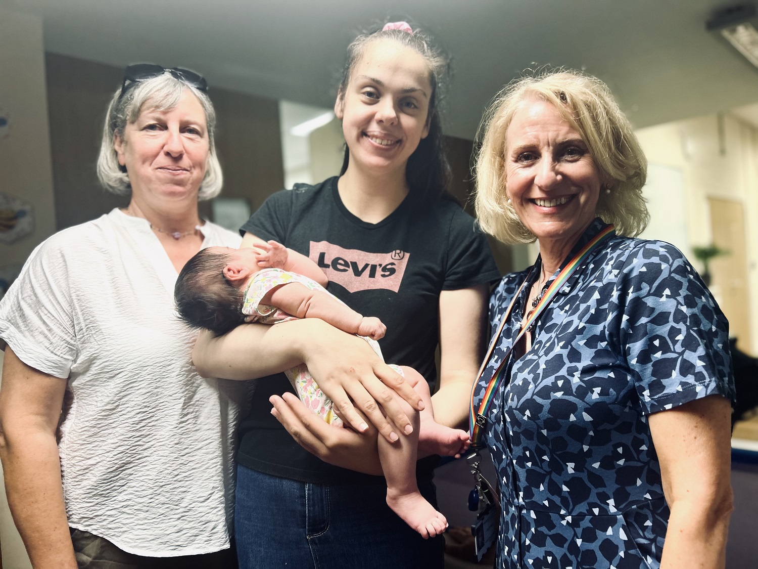
[(397, 398), (403, 404), (413, 432), (410, 435), (399, 433), (400, 438), (394, 443), (379, 437), (379, 459), (384, 478), (387, 479), (387, 505), (410, 527), (421, 533), (424, 539), (443, 533), (447, 520), (424, 499), (416, 485), (416, 457), (418, 455), (418, 411)]

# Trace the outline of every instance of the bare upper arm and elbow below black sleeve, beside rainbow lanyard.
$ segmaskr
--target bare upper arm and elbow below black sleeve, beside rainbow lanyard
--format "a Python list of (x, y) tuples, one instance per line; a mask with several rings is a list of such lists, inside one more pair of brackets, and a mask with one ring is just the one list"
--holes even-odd
[(440, 293), (440, 389), (434, 420), (459, 428), (468, 420), (471, 388), (484, 354), (487, 285)]

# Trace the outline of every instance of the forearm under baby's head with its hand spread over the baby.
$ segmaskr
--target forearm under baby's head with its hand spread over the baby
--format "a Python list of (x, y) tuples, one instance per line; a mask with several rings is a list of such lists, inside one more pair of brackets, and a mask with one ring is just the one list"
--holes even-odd
[(315, 318), (273, 326), (243, 324), (218, 338), (200, 332), (193, 363), (201, 376), (226, 379), (255, 379), (305, 363), (343, 420), (366, 431), (358, 407), (390, 442), (397, 438), (393, 428), (412, 428), (390, 389), (412, 407), (424, 407), (413, 388), (366, 341)]

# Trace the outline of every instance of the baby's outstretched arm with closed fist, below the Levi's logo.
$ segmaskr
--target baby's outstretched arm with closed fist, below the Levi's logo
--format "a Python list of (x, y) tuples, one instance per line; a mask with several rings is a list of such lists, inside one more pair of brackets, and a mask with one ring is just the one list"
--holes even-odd
[(274, 288), (263, 297), (261, 303), (280, 308), (298, 318), (320, 318), (344, 332), (374, 340), (383, 338), (384, 332), (387, 332), (387, 326), (380, 319), (361, 316), (329, 294), (312, 291), (299, 282)]

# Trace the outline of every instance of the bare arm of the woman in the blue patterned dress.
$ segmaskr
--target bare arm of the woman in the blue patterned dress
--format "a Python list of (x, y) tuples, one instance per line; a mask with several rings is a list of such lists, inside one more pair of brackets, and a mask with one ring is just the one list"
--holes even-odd
[(725, 566), (732, 511), (731, 407), (720, 395), (649, 417), (671, 509), (661, 569)]

